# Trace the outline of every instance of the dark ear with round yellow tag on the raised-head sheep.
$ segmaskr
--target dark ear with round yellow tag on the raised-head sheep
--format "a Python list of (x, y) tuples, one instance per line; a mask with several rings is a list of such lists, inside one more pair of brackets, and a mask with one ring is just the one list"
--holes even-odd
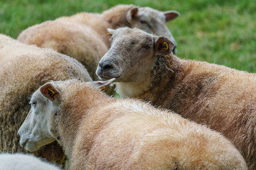
[(168, 55), (174, 48), (174, 43), (164, 36), (156, 37), (154, 42), (156, 52), (163, 55)]

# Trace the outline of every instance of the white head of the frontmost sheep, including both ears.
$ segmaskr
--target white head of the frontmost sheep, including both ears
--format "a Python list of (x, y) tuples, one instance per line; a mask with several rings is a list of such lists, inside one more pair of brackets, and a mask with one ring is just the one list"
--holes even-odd
[[(102, 89), (114, 80), (89, 81), (86, 84)], [(52, 81), (44, 84), (32, 95), (30, 102), (31, 110), (18, 130), (18, 135), (21, 137), (21, 147), (34, 152), (43, 145), (48, 145), (55, 140), (60, 142), (61, 137), (57, 117), (63, 114), (60, 109), (62, 97), (64, 94), (69, 94), (65, 90), (62, 90), (62, 93), (60, 93), (60, 84), (63, 82), (67, 81)], [(65, 115), (63, 116), (65, 117)]]

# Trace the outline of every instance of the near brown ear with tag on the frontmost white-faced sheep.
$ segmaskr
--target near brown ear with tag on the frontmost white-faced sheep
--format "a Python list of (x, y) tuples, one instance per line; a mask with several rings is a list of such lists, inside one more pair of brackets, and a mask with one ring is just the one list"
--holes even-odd
[(50, 101), (55, 101), (56, 98), (60, 95), (60, 91), (55, 89), (53, 84), (47, 83), (40, 88), (41, 94), (46, 98), (50, 99)]

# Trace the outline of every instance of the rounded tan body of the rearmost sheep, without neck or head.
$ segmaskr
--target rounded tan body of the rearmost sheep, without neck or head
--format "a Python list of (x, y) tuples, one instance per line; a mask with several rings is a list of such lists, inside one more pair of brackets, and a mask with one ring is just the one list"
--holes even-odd
[[(97, 62), (108, 49), (102, 38), (91, 27), (64, 21), (46, 21), (28, 28), (18, 40), (38, 47), (52, 48), (74, 57), (90, 71), (97, 67)], [(90, 73), (92, 77), (95, 74)]]

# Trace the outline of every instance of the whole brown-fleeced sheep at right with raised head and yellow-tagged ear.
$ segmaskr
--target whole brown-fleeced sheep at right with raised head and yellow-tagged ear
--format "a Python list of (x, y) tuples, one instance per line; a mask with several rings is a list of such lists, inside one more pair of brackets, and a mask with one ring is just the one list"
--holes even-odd
[(109, 31), (112, 47), (97, 67), (100, 79), (117, 78), (120, 96), (151, 101), (221, 132), (242, 152), (249, 169), (256, 169), (255, 74), (181, 60), (163, 36), (130, 28)]

